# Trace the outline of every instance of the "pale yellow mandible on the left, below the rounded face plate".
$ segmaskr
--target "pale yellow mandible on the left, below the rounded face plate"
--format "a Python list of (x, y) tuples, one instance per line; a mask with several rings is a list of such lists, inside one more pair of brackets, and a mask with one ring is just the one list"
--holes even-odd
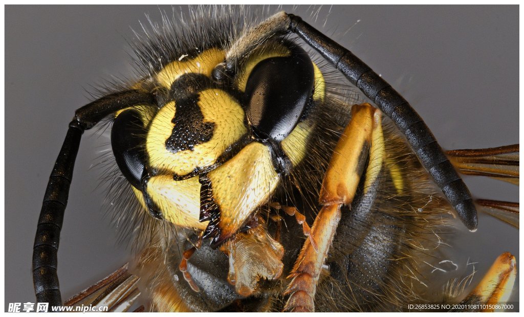
[[(161, 210), (165, 220), (185, 228), (203, 230), (208, 222), (199, 222), (200, 183), (198, 177), (175, 181), (171, 176), (159, 175), (149, 179), (147, 193)], [(135, 194), (142, 196), (135, 189)], [(144, 205), (144, 199), (141, 198)]]

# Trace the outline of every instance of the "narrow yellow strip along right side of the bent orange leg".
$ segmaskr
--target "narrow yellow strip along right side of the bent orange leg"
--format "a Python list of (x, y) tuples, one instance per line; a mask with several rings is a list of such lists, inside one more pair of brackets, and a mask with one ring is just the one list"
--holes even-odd
[(382, 114), (376, 111), (373, 115), (373, 132), (371, 135), (371, 148), (369, 150), (369, 163), (364, 181), (364, 193), (377, 179), (382, 170), (382, 163), (386, 150), (384, 149), (384, 135), (382, 134)]

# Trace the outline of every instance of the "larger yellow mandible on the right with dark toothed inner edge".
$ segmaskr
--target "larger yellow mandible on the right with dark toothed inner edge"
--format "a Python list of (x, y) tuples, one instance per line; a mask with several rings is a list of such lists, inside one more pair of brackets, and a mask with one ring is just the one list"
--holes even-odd
[(277, 187), (280, 177), (269, 149), (260, 143), (244, 147), (231, 160), (209, 172), (213, 198), (220, 206), (222, 235), (235, 233)]

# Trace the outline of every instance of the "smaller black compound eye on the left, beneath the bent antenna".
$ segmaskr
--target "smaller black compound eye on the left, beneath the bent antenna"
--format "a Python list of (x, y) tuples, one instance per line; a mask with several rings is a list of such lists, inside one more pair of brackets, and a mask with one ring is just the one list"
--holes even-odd
[(113, 155), (126, 179), (139, 190), (146, 162), (145, 137), (146, 129), (136, 110), (123, 111), (116, 117), (111, 129)]

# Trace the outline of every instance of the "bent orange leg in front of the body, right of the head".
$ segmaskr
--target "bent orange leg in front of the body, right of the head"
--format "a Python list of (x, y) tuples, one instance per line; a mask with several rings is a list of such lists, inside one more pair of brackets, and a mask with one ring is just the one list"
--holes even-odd
[[(310, 240), (305, 241), (299, 257), (288, 278), (292, 278), (286, 290), (290, 297), (285, 311), (314, 311), (316, 282), (322, 265), (333, 241), (341, 218), (340, 208), (353, 201), (370, 153), (372, 140), (381, 138), (381, 114), (369, 104), (354, 105), (352, 119), (337, 143), (324, 176), (320, 191), (323, 205), (312, 228), (312, 239), (318, 246), (315, 250)], [(380, 148), (380, 144), (376, 144)], [(366, 177), (378, 176), (383, 156), (371, 151)], [(380, 162), (375, 162), (376, 160)], [(378, 170), (376, 168), (378, 166)]]

